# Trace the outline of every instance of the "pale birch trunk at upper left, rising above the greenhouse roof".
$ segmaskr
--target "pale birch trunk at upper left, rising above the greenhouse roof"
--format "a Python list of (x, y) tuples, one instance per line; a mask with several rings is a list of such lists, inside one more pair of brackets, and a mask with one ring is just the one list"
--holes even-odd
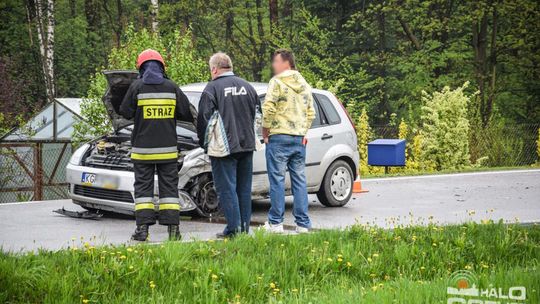
[(56, 94), (54, 85), (54, 0), (35, 0), (34, 5), (45, 92), (47, 101), (52, 102)]

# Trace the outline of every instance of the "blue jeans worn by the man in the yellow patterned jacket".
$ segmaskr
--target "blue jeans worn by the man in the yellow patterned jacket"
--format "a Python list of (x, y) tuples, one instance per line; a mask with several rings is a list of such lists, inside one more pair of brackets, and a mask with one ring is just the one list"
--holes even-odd
[(271, 207), (268, 221), (283, 222), (285, 214), (285, 173), (289, 170), (291, 190), (294, 196), (293, 215), (298, 226), (311, 228), (308, 216), (308, 194), (306, 185), (306, 146), (302, 136), (276, 134), (270, 136), (266, 145), (266, 167), (270, 181)]

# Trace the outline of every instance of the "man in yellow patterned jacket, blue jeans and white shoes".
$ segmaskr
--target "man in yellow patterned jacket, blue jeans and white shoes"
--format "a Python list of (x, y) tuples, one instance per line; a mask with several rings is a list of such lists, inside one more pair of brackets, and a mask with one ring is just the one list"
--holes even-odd
[(308, 194), (305, 176), (305, 135), (315, 118), (311, 87), (296, 70), (293, 54), (277, 50), (272, 59), (274, 77), (268, 84), (263, 110), (263, 137), (270, 181), (271, 207), (264, 229), (283, 232), (285, 173), (289, 170), (294, 196), (293, 215), (298, 233), (308, 232)]

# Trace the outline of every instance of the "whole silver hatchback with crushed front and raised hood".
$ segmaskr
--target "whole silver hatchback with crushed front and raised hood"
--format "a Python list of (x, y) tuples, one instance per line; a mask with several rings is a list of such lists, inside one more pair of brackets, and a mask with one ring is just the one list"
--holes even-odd
[[(133, 164), (130, 160), (132, 121), (118, 114), (120, 103), (136, 78), (133, 71), (105, 72), (109, 87), (103, 97), (114, 133), (79, 147), (66, 167), (70, 196), (75, 204), (90, 210), (133, 214)], [(251, 83), (261, 100), (267, 84)], [(206, 83), (181, 87), (194, 109)], [(359, 163), (354, 125), (341, 102), (328, 91), (313, 90), (316, 117), (306, 137), (306, 176), (309, 193), (316, 193), (328, 207), (347, 204), (356, 179)], [(219, 215), (212, 182), (210, 160), (198, 146), (195, 126), (178, 122), (178, 192), (182, 211), (196, 211), (200, 216)], [(156, 177), (157, 179), (157, 177)], [(287, 177), (286, 187), (290, 189)], [(157, 193), (157, 183), (154, 193)], [(265, 151), (253, 156), (253, 198), (269, 193)], [(156, 197), (157, 200), (157, 197)]]

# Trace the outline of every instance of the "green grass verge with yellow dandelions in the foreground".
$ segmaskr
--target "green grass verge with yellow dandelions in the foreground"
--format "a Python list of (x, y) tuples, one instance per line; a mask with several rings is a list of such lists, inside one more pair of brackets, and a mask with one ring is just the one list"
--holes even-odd
[(526, 303), (539, 303), (539, 258), (539, 226), (502, 223), (82, 243), (0, 254), (0, 303), (446, 303), (448, 279), (463, 269), (481, 287), (523, 285)]

